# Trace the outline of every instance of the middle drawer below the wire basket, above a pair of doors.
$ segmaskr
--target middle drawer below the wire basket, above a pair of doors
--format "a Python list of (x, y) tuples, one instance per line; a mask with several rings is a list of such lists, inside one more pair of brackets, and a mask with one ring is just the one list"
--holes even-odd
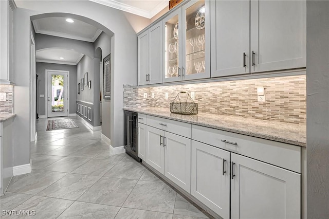
[(155, 116), (147, 116), (147, 125), (156, 127), (157, 129), (191, 138), (191, 124), (178, 122), (175, 120), (164, 119)]

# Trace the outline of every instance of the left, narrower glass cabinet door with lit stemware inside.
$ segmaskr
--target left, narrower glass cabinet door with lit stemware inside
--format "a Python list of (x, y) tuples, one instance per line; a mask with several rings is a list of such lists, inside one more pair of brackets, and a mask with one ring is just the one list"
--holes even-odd
[(163, 20), (165, 26), (165, 71), (163, 82), (181, 80), (181, 10)]

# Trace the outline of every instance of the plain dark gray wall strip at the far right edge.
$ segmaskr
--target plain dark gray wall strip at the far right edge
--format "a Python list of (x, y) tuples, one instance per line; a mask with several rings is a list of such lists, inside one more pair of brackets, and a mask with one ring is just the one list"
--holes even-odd
[(329, 2), (307, 1), (307, 218), (329, 216)]

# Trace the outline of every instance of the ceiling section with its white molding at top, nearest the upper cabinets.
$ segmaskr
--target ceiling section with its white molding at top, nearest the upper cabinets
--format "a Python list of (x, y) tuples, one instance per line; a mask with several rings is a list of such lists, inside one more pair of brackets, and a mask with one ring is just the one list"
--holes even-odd
[(89, 0), (108, 7), (151, 19), (154, 15), (169, 7), (168, 0)]

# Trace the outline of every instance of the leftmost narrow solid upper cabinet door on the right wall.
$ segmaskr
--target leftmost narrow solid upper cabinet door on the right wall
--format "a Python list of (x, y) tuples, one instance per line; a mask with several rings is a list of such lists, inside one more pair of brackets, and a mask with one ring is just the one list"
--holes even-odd
[(138, 85), (147, 84), (149, 77), (149, 31), (138, 35)]

